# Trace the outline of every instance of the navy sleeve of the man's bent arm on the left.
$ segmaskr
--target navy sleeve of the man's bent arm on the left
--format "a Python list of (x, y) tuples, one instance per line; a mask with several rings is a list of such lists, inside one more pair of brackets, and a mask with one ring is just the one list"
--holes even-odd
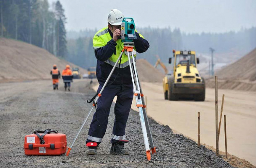
[(111, 55), (113, 55), (113, 53), (116, 53), (116, 45), (117, 43), (113, 39), (111, 39), (106, 44), (106, 46), (95, 49), (94, 51), (95, 57), (101, 61), (107, 60), (108, 58), (111, 57)]

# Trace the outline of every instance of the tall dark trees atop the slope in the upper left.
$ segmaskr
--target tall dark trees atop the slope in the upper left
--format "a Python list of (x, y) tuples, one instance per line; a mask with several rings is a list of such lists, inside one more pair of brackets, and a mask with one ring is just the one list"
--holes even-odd
[(0, 0), (0, 35), (67, 56), (66, 17), (57, 1), (50, 9), (48, 0)]

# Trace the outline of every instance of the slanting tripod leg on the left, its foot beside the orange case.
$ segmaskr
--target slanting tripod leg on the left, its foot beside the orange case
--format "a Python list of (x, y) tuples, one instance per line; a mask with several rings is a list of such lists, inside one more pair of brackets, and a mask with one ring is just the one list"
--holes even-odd
[(105, 81), (105, 83), (104, 83), (103, 87), (101, 88), (100, 93), (98, 94), (98, 96), (97, 96), (97, 97), (96, 97), (96, 99), (95, 99), (95, 104), (93, 104), (93, 106), (92, 106), (92, 108), (91, 108), (90, 112), (88, 113), (88, 115), (87, 115), (86, 119), (84, 120), (84, 122), (83, 122), (82, 126), (80, 127), (80, 130), (79, 130), (79, 131), (78, 131), (78, 133), (76, 134), (76, 137), (74, 138), (74, 140), (73, 140), (73, 142), (72, 142), (72, 144), (71, 144), (70, 148), (69, 148), (69, 147), (67, 147), (67, 148), (68, 148), (68, 151), (67, 151), (66, 156), (68, 156), (68, 155), (69, 155), (70, 150), (72, 149), (72, 147), (73, 147), (74, 143), (76, 142), (76, 139), (77, 139), (77, 137), (79, 136), (80, 132), (82, 131), (83, 126), (85, 125), (85, 123), (86, 123), (86, 121), (87, 121), (87, 119), (88, 119), (89, 115), (91, 114), (91, 112), (92, 112), (92, 110), (93, 110), (94, 106), (96, 106), (96, 103), (98, 102), (98, 99), (99, 99), (99, 97), (101, 96), (101, 93), (103, 92), (103, 90), (104, 90), (105, 86), (107, 85), (107, 83), (108, 83), (108, 81), (109, 81), (109, 79), (110, 79), (111, 75), (113, 74), (113, 72), (114, 72), (114, 70), (115, 70), (115, 68), (116, 68), (116, 66), (117, 66), (117, 63), (118, 63), (118, 62), (119, 62), (119, 60), (121, 59), (122, 55), (123, 55), (123, 51), (121, 52), (120, 56), (119, 56), (119, 57), (118, 57), (118, 59), (117, 59), (117, 62), (115, 63), (115, 65), (113, 66), (113, 68), (112, 68), (112, 70), (111, 70), (110, 74), (108, 75), (108, 78), (107, 78), (107, 80)]

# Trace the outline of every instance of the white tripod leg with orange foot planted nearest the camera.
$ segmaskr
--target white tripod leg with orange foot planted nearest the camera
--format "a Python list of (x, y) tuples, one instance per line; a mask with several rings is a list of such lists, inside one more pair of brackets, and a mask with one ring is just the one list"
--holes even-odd
[[(142, 108), (143, 105), (142, 105), (142, 98), (140, 96), (139, 84), (138, 84), (137, 80), (136, 80), (136, 83), (135, 83), (134, 75), (136, 76), (136, 71), (133, 72), (133, 67), (132, 67), (132, 62), (131, 62), (131, 59), (130, 59), (129, 52), (127, 52), (127, 55), (128, 55), (130, 72), (131, 72), (132, 81), (133, 81), (133, 90), (134, 90), (134, 93), (136, 95), (135, 96), (136, 104), (137, 104), (137, 107), (139, 108), (139, 118), (140, 118), (140, 123), (141, 123), (141, 128), (142, 128), (142, 134), (143, 134), (145, 149), (146, 149), (146, 156), (147, 156), (147, 160), (150, 160), (151, 159), (150, 148), (149, 148), (149, 143), (148, 143), (148, 135), (147, 135), (146, 125), (145, 125), (145, 118), (144, 118), (144, 115), (143, 115), (143, 108)], [(136, 70), (136, 69), (134, 69), (134, 70)]]

